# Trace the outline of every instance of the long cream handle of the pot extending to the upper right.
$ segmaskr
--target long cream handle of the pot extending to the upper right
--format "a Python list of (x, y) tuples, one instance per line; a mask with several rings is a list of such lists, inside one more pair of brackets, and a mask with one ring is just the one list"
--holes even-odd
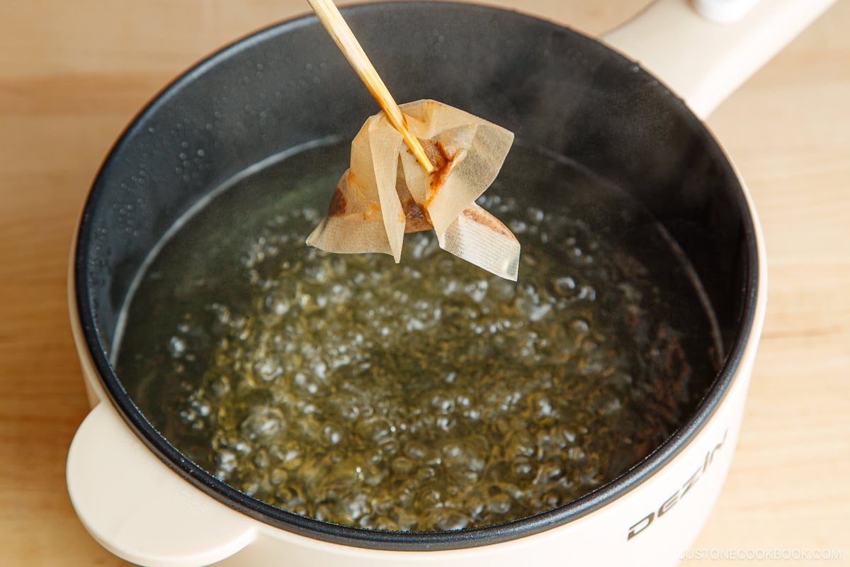
[(704, 118), (834, 2), (656, 0), (603, 40)]

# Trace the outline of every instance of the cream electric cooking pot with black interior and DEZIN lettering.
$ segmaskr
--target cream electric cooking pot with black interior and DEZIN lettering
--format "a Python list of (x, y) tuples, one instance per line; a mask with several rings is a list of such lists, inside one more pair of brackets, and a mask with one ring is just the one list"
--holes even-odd
[[(314, 17), (259, 31), (187, 71), (112, 148), (71, 253), (71, 321), (93, 406), (67, 462), (82, 523), (145, 565), (675, 564), (728, 471), (767, 297), (750, 197), (697, 115), (828, 4), (763, 2), (720, 24), (684, 0), (661, 0), (607, 37), (686, 100), (605, 43), (527, 15), (461, 3), (343, 10), (399, 101), (438, 99), (483, 116), (630, 191), (689, 258), (721, 329), (723, 365), (672, 438), (574, 502), (471, 530), (363, 530), (259, 502), (182, 456), (116, 376), (122, 304), (175, 220), (222, 180), (317, 139), (350, 139), (376, 111)], [(191, 173), (179, 167), (186, 147), (207, 148)]]

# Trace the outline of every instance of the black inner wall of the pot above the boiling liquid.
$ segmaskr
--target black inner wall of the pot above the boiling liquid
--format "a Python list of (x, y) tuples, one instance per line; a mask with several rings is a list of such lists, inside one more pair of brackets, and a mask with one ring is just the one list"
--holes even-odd
[(365, 547), (467, 547), (546, 529), (636, 485), (698, 430), (731, 380), (751, 324), (753, 227), (740, 183), (683, 102), (588, 37), (523, 15), (448, 3), (372, 4), (344, 14), (399, 101), (438, 99), (569, 156), (620, 185), (666, 227), (698, 273), (721, 330), (723, 369), (697, 415), (621, 479), (532, 519), (456, 533), (367, 532), (303, 519), (242, 495), (182, 459), (133, 405), (109, 355), (129, 286), (166, 230), (209, 190), (267, 156), (351, 138), (374, 101), (317, 20), (271, 27), (225, 48), (133, 121), (89, 196), (77, 300), (112, 401), (185, 478), (287, 530)]

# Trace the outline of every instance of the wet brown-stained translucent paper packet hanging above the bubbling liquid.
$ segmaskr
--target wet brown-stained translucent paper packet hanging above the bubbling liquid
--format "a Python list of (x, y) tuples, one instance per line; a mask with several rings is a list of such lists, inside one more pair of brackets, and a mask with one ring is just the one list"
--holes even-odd
[(433, 229), (445, 251), (516, 281), (519, 242), (475, 204), (496, 179), (513, 133), (435, 100), (399, 108), (434, 171), (416, 161), (383, 112), (371, 116), (307, 243), (328, 252), (384, 252), (399, 262), (405, 233)]

